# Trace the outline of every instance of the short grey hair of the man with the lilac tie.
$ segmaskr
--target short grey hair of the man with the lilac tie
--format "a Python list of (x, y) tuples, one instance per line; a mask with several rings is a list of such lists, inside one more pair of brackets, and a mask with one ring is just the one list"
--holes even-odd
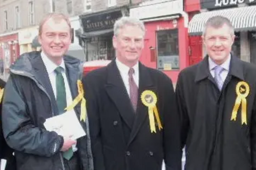
[(203, 29), (203, 36), (205, 36), (206, 30), (208, 27), (221, 28), (223, 25), (227, 25), (230, 28), (230, 35), (233, 36), (234, 28), (232, 26), (231, 21), (228, 18), (220, 15), (210, 17), (206, 21)]

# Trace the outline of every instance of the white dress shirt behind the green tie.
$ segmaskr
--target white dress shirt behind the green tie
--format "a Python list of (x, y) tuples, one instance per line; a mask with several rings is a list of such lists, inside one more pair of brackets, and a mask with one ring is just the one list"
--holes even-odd
[[(55, 99), (57, 98), (57, 94), (56, 94), (57, 90), (56, 90), (56, 73), (54, 72), (54, 70), (58, 66), (63, 68), (61, 74), (63, 76), (64, 83), (65, 83), (67, 106), (69, 106), (72, 103), (73, 98), (72, 98), (72, 95), (71, 95), (71, 91), (70, 91), (70, 87), (69, 87), (69, 82), (68, 82), (68, 79), (67, 79), (67, 76), (66, 76), (66, 67), (65, 67), (64, 60), (62, 59), (61, 64), (57, 65), (54, 62), (52, 62), (46, 56), (46, 54), (44, 52), (41, 52), (41, 57), (42, 57), (42, 61), (44, 62), (45, 66), (46, 66), (46, 70), (48, 72), (48, 76), (49, 76), (49, 79), (50, 79), (50, 82), (51, 82), (51, 85), (52, 85), (52, 89), (53, 89), (53, 93), (54, 93)], [(74, 112), (74, 114), (76, 114), (74, 109), (72, 109), (71, 111)], [(76, 145), (72, 145), (72, 148), (73, 148), (74, 152), (77, 151)]]

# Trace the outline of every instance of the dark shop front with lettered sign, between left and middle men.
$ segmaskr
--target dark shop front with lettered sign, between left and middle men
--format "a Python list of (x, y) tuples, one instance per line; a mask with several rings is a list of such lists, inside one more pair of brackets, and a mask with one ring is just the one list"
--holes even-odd
[(115, 58), (115, 50), (112, 43), (113, 27), (115, 21), (126, 16), (126, 7), (118, 7), (108, 11), (81, 15), (82, 33), (86, 52), (86, 61), (112, 60)]

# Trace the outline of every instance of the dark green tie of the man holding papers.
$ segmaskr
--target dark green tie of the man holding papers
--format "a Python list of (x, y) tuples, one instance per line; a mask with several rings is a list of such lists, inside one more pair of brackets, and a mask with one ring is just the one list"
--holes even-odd
[[(67, 107), (65, 82), (61, 74), (62, 70), (63, 68), (60, 66), (58, 66), (54, 70), (56, 73), (56, 102), (57, 102), (59, 114), (64, 113), (65, 112), (64, 109)], [(67, 160), (70, 160), (72, 156), (73, 156), (72, 147), (68, 151), (63, 152), (63, 157)]]

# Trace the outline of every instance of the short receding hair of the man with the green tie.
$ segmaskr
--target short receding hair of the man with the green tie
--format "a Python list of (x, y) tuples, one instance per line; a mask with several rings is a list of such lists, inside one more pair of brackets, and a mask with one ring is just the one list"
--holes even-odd
[(72, 37), (73, 32), (72, 32), (71, 23), (70, 23), (69, 18), (62, 13), (55, 13), (55, 12), (48, 13), (46, 16), (44, 16), (44, 18), (42, 18), (42, 20), (40, 21), (40, 24), (39, 24), (39, 31), (38, 31), (39, 36), (42, 34), (42, 26), (44, 26), (46, 21), (48, 21), (49, 19), (53, 19), (54, 22), (60, 22), (61, 20), (65, 20), (70, 28), (70, 36)]

